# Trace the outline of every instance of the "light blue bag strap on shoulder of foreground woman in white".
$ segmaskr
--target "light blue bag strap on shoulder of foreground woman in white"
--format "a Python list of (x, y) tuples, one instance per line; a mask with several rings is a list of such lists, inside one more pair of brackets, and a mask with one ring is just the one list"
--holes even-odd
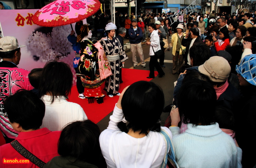
[[(160, 134), (162, 134), (166, 146), (165, 157), (163, 158), (160, 168), (166, 168), (167, 166), (169, 168), (179, 168), (175, 160), (175, 153), (170, 135), (163, 129), (161, 129)], [(168, 153), (169, 146), (171, 154)]]

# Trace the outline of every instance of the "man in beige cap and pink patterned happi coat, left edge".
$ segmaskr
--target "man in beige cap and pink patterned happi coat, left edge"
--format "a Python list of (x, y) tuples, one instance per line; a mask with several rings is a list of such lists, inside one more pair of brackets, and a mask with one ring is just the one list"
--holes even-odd
[(20, 61), (20, 47), (15, 37), (5, 36), (0, 39), (0, 129), (4, 135), (6, 143), (11, 142), (18, 136), (8, 119), (4, 117), (4, 100), (16, 93), (19, 89), (31, 90), (33, 87), (29, 82), (29, 71), (18, 68)]

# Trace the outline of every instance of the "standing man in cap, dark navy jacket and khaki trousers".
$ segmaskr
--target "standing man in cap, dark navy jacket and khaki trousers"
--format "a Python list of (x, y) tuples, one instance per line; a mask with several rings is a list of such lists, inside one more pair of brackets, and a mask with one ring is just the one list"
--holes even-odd
[(137, 19), (132, 20), (132, 26), (129, 28), (128, 33), (129, 33), (129, 42), (131, 43), (133, 68), (136, 68), (138, 66), (138, 62), (136, 58), (136, 50), (138, 50), (142, 68), (146, 68), (146, 63), (144, 62), (144, 55), (143, 55), (143, 50), (141, 46), (143, 34), (142, 34), (142, 29), (139, 26), (137, 26)]

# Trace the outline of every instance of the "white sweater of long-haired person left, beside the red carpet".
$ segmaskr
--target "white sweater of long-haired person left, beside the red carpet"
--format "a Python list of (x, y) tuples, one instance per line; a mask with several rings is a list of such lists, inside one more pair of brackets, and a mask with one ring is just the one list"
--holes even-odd
[(45, 117), (40, 128), (48, 128), (51, 131), (60, 131), (65, 125), (74, 121), (86, 120), (87, 116), (83, 108), (76, 103), (68, 102), (64, 96), (57, 96), (51, 104), (51, 96), (44, 95)]

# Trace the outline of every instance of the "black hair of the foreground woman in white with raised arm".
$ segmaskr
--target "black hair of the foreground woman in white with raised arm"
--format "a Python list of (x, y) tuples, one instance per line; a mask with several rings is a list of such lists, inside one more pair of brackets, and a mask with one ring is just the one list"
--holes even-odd
[(162, 89), (153, 82), (138, 81), (131, 84), (124, 92), (121, 106), (128, 125), (117, 124), (118, 128), (127, 133), (129, 129), (140, 134), (148, 131), (161, 130), (160, 116), (165, 103)]

